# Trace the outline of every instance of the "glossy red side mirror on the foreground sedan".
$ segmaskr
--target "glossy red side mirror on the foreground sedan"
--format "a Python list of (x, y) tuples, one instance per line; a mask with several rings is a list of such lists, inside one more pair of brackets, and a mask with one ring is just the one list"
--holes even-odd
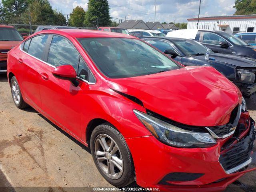
[(62, 65), (54, 68), (52, 74), (59, 79), (73, 81), (76, 79), (76, 70), (71, 65)]

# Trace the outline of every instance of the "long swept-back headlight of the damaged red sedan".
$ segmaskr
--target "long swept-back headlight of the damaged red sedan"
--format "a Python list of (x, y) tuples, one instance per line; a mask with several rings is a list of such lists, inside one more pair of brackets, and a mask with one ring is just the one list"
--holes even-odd
[(161, 142), (183, 148), (206, 148), (216, 144), (208, 133), (184, 130), (148, 114), (134, 110), (138, 119)]

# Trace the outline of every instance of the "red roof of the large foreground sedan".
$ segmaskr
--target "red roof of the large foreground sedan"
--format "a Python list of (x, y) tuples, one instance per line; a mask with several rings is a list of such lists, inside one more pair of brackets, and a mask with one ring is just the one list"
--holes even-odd
[[(35, 34), (60, 34), (66, 36), (72, 36), (74, 38), (105, 38), (105, 37), (114, 37), (114, 38), (131, 38), (138, 39), (134, 36), (128, 36), (122, 33), (113, 33), (113, 32), (103, 32), (99, 30), (86, 30), (86, 29), (57, 29), (57, 30), (43, 30)], [(34, 34), (33, 34), (34, 36)]]

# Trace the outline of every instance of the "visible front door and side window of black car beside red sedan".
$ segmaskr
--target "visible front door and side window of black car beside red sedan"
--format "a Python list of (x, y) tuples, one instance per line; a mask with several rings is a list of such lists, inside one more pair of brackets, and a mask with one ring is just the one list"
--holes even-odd
[(145, 40), (147, 43), (151, 44), (152, 46), (158, 48), (160, 51), (164, 52), (165, 50), (171, 49), (174, 52), (176, 52), (179, 56), (173, 58), (174, 60), (181, 62), (181, 56), (178, 50), (174, 47), (173, 44), (171, 44), (169, 41), (165, 40), (153, 40), (153, 39), (148, 39)]

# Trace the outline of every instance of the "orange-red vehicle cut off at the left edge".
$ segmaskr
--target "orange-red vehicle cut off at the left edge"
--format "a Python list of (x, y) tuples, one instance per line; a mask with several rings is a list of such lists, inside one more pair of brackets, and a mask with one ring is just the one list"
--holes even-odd
[(7, 52), (23, 40), (13, 27), (0, 24), (0, 73), (6, 73)]

